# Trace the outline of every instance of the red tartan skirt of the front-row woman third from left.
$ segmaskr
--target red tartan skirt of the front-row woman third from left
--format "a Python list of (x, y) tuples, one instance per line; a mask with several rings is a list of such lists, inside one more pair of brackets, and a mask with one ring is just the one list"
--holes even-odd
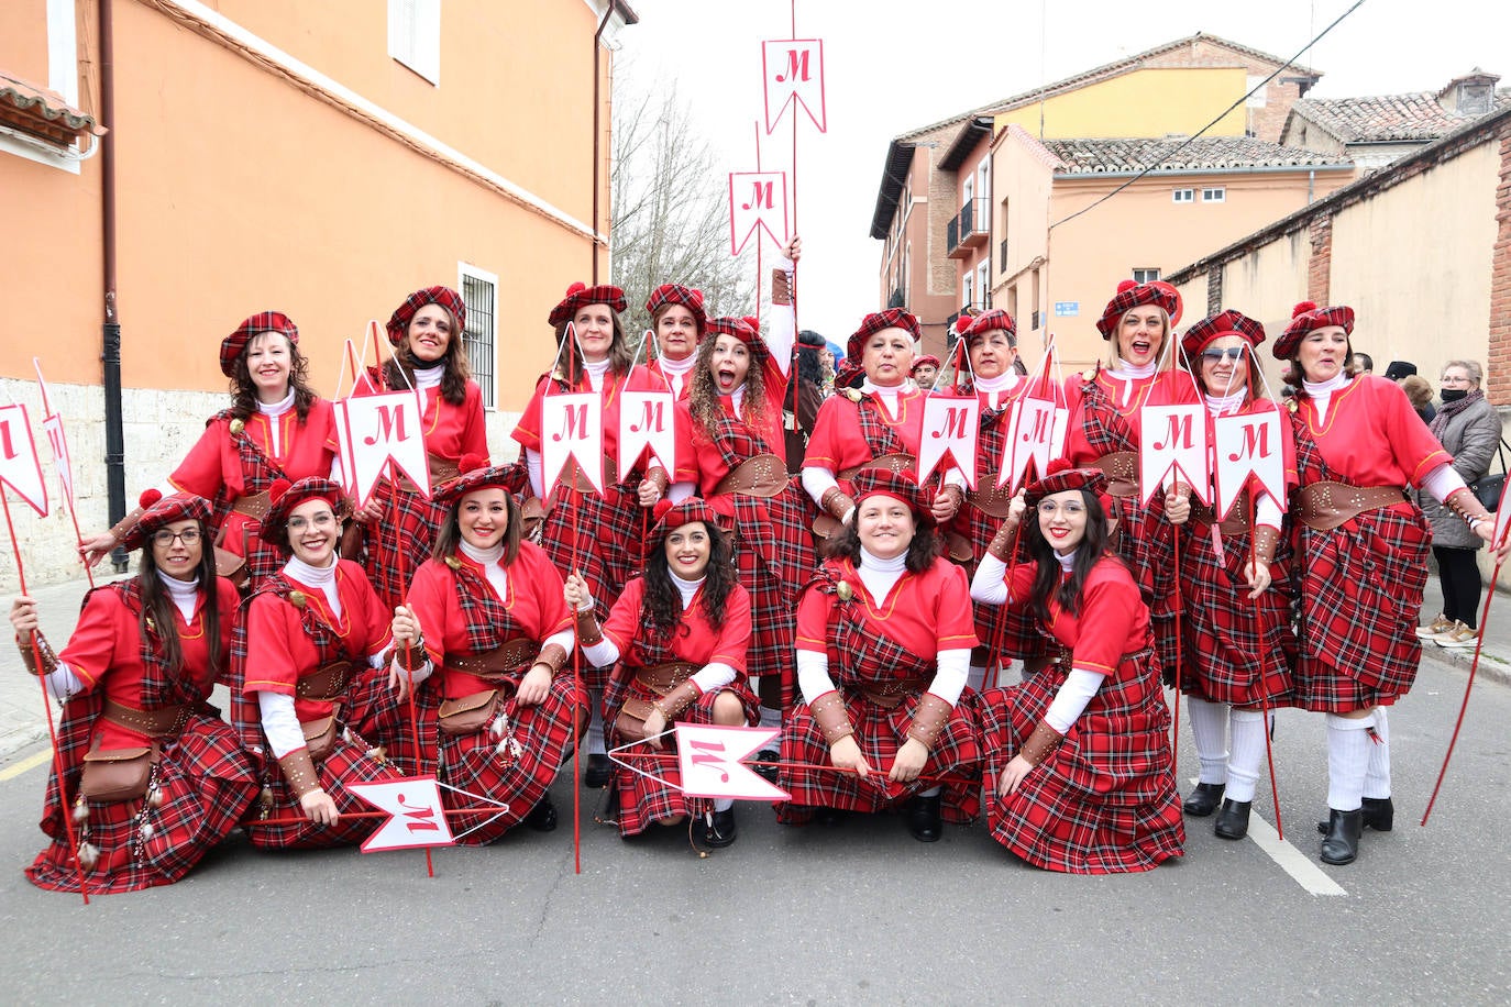
[[(571, 752), (574, 711), (580, 705), (571, 678), (558, 676), (545, 699), (533, 707), (520, 707), (514, 699), (505, 702), (508, 729), (503, 741), (490, 728), (477, 734), (440, 735), (435, 774), (443, 784), (441, 803), (447, 809), (477, 809), (447, 815), (458, 844), (493, 842), (530, 814)], [(518, 741), (517, 753), (506, 744), (511, 737)]]

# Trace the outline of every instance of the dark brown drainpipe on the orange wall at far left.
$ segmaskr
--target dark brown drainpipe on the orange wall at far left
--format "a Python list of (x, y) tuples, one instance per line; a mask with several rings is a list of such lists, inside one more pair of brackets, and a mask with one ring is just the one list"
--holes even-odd
[[(100, 149), (100, 223), (104, 246), (104, 480), (113, 525), (125, 516), (125, 430), (121, 418), (121, 317), (115, 290), (115, 30), (112, 0), (100, 0), (100, 119), (106, 130)], [(110, 565), (124, 572), (125, 550), (110, 553)]]

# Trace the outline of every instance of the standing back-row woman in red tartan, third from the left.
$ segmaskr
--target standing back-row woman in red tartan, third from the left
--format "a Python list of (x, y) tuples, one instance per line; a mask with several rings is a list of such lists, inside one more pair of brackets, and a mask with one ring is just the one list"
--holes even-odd
[[(660, 482), (642, 479), (636, 470), (620, 473), (620, 393), (665, 391), (660, 377), (644, 367), (633, 367), (635, 352), (624, 337), (624, 291), (618, 287), (585, 287), (573, 284), (567, 296), (552, 308), (550, 323), (556, 328), (561, 347), (558, 365), (541, 377), (535, 396), (524, 406), (524, 415), (514, 427), (514, 439), (524, 448), (530, 491), (535, 500), (524, 504), (527, 519), (544, 513), (541, 545), (561, 575), (580, 572), (592, 590), (598, 617), (607, 619), (624, 584), (639, 572), (641, 544), (650, 527), (648, 509), (669, 489)], [(564, 344), (571, 326), (576, 341)], [(565, 358), (565, 359), (562, 359)], [(541, 402), (561, 393), (597, 393), (603, 400), (603, 494), (568, 462), (561, 473), (556, 492), (545, 498), (541, 465)], [(588, 731), (588, 768), (583, 776), (589, 787), (609, 782), (609, 759), (603, 755), (603, 723), (597, 696), (607, 681), (607, 669), (591, 669), (586, 684), (592, 702), (592, 726)]]

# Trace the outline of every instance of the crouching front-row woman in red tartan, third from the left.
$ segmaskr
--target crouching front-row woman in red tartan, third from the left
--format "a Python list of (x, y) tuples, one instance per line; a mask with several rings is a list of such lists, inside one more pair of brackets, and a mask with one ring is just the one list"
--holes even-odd
[[(423, 725), (425, 768), (449, 808), (480, 808), (450, 818), (467, 844), (493, 842), (520, 821), (556, 827), (547, 788), (571, 755), (582, 705), (562, 670), (573, 637), (561, 574), (520, 540), (512, 467), (477, 460), (437, 492), (446, 522), (393, 619), (399, 663), (408, 660), (422, 694), (432, 694), (422, 704), (434, 711)], [(406, 684), (406, 672), (396, 675)]]

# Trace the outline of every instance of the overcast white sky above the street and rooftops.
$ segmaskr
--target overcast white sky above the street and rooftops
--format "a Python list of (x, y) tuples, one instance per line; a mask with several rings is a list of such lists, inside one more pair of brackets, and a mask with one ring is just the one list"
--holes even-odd
[[(620, 36), (636, 80), (675, 80), (727, 171), (754, 171), (760, 44), (792, 38), (789, 0), (629, 0)], [(881, 242), (869, 237), (881, 166), (898, 133), (1207, 32), (1290, 56), (1352, 0), (798, 0), (798, 38), (823, 39), (828, 133), (798, 136), (804, 328), (843, 344), (876, 308)], [(1047, 23), (1041, 11), (1047, 9)], [(1315, 97), (1429, 91), (1482, 66), (1511, 85), (1511, 3), (1364, 0), (1298, 60)], [(789, 112), (790, 115), (790, 112)], [(786, 169), (790, 127), (762, 140)], [(721, 174), (716, 184), (725, 184)], [(675, 281), (675, 276), (666, 276)], [(746, 305), (713, 305), (740, 314)]]

